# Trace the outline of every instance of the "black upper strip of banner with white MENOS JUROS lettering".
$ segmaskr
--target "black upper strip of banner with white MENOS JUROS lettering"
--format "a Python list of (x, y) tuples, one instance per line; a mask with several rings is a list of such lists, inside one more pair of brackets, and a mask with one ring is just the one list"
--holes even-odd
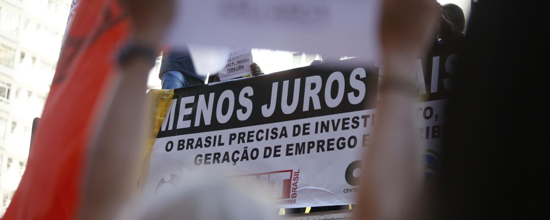
[[(417, 60), (411, 70), (422, 101), (447, 97), (458, 57), (450, 51), (436, 45), (430, 57)], [(375, 108), (383, 71), (383, 64), (346, 59), (177, 89), (157, 138)]]

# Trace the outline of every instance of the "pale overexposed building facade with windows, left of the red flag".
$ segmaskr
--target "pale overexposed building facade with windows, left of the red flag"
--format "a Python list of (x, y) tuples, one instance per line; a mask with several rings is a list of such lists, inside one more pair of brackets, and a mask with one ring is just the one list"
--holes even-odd
[(72, 4), (0, 0), (0, 218), (25, 172), (32, 121), (42, 114)]

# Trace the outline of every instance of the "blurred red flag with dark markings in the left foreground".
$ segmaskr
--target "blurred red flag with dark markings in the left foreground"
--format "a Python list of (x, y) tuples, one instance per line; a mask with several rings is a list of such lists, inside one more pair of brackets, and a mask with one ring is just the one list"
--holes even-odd
[(116, 68), (129, 20), (116, 0), (73, 0), (70, 29), (42, 119), (4, 219), (78, 215), (95, 110)]

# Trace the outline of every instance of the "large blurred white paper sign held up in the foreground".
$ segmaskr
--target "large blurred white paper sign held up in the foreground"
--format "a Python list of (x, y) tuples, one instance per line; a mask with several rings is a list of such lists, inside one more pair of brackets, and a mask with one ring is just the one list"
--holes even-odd
[(167, 43), (375, 58), (379, 0), (179, 0)]

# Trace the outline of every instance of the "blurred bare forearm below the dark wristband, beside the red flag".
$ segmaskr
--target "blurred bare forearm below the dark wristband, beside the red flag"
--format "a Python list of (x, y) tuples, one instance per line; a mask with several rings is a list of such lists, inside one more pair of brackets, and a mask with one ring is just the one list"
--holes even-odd
[(131, 59), (107, 93), (105, 114), (90, 146), (80, 219), (113, 219), (137, 188), (148, 118), (147, 74), (153, 64), (140, 57)]

